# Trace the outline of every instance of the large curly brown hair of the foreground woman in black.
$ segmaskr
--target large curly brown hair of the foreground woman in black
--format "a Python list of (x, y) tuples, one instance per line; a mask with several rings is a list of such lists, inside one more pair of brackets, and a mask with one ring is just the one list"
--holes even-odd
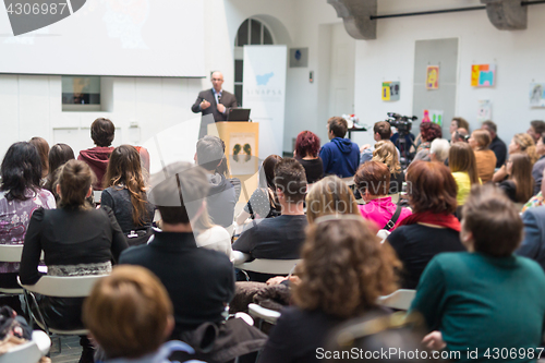
[(396, 268), (401, 263), (363, 219), (318, 220), (310, 227), (301, 255), (301, 283), (293, 299), (303, 310), (350, 318), (397, 289)]

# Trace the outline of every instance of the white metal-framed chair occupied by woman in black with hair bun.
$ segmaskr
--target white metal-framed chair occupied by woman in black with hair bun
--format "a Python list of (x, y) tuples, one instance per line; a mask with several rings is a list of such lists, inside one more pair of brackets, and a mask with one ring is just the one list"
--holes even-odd
[(48, 335), (57, 334), (57, 335), (68, 335), (68, 336), (82, 336), (87, 335), (87, 329), (75, 329), (75, 330), (60, 330), (55, 328), (49, 328), (39, 311), (39, 306), (34, 298), (33, 293), (39, 293), (46, 297), (55, 297), (55, 298), (86, 298), (95, 283), (101, 279), (101, 276), (43, 276), (38, 282), (35, 285), (22, 285), (21, 280), (17, 277), (19, 283), (25, 290), (25, 300), (27, 304), (27, 308), (31, 310), (31, 299), (32, 303), (35, 305), (36, 311), (38, 313), (38, 319), (35, 318), (34, 314), (31, 314), (31, 319), (34, 319), (40, 328), (46, 330)]

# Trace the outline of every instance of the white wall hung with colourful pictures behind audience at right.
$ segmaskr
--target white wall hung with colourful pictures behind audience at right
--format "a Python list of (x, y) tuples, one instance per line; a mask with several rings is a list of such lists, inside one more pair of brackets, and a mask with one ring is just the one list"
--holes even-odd
[[(446, 1), (445, 8), (479, 5), (479, 1)], [(433, 7), (433, 8), (432, 8)], [(379, 13), (437, 9), (429, 0), (413, 2), (387, 0), (379, 2)], [(512, 134), (525, 132), (529, 122), (545, 119), (545, 109), (529, 106), (529, 84), (545, 82), (545, 5), (529, 8), (526, 31), (496, 29), (485, 11), (436, 14), (378, 20), (376, 40), (359, 40), (355, 55), (355, 112), (367, 123), (384, 119), (386, 112), (408, 114), (412, 110), (414, 43), (420, 39), (458, 37), (459, 75), (456, 113), (476, 122), (477, 101), (493, 101), (493, 120), (498, 134), (509, 143)], [(496, 63), (497, 82), (493, 88), (470, 86), (471, 64)], [(383, 81), (401, 81), (401, 99), (380, 100)], [(415, 110), (417, 111), (417, 110)], [(416, 114), (421, 118), (421, 114)], [(447, 121), (448, 122), (448, 121)]]

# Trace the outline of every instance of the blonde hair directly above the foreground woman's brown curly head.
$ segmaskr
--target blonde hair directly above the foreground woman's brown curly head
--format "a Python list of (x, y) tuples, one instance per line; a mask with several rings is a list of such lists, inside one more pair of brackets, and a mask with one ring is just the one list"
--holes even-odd
[(326, 177), (306, 194), (306, 219), (312, 225), (319, 217), (336, 214), (362, 217), (354, 194), (347, 184), (338, 177)]

